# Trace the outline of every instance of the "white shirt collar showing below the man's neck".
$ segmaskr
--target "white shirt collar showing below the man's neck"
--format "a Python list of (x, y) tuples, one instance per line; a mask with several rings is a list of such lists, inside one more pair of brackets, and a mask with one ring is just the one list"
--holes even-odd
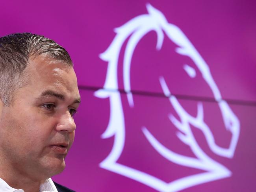
[[(0, 178), (0, 192), (24, 192), (23, 189), (15, 189), (9, 186)], [(40, 185), (39, 192), (58, 192), (51, 178), (46, 179), (45, 183)]]

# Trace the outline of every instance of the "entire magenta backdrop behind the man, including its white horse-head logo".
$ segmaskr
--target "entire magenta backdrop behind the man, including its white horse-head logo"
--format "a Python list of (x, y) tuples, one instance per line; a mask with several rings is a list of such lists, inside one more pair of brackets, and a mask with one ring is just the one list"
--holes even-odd
[[(255, 6), (243, 0), (2, 1), (0, 36), (45, 35), (74, 61), (82, 98), (76, 138), (66, 169), (53, 180), (79, 192), (255, 191)], [(117, 34), (112, 50), (99, 57)], [(130, 66), (123, 64), (129, 42)], [(178, 47), (191, 54), (178, 54)], [(163, 94), (165, 83), (173, 103)], [(200, 106), (203, 120), (193, 123)]]

